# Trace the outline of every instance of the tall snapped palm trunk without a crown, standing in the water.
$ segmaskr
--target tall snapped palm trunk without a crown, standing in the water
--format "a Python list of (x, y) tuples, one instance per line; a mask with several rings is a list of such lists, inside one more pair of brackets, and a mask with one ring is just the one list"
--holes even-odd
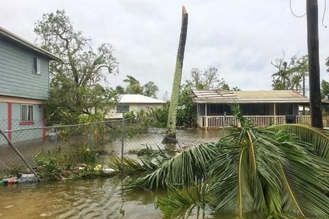
[(173, 77), (173, 89), (171, 90), (170, 107), (167, 122), (167, 135), (162, 143), (175, 143), (176, 140), (176, 115), (178, 108), (178, 96), (180, 95), (180, 83), (182, 81), (182, 67), (184, 60), (184, 50), (187, 34), (188, 14), (183, 6), (182, 8), (182, 27), (180, 30), (180, 43), (178, 44), (178, 52), (176, 57), (175, 75)]

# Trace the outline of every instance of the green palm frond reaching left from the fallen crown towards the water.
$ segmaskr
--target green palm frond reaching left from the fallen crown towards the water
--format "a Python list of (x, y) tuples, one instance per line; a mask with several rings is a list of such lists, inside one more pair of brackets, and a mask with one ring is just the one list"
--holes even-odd
[(217, 144), (199, 144), (182, 151), (164, 162), (156, 171), (136, 181), (127, 182), (127, 189), (167, 185), (191, 185), (202, 182), (208, 174), (212, 159), (217, 156)]

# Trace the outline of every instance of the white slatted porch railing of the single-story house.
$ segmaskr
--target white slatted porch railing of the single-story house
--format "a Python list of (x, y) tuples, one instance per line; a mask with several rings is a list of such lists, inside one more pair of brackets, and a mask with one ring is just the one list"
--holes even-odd
[[(254, 123), (257, 127), (269, 125), (281, 125), (286, 123), (286, 116), (243, 116)], [(296, 116), (296, 123), (310, 125), (310, 116)], [(239, 121), (234, 116), (201, 116), (200, 127), (222, 128), (239, 126)]]

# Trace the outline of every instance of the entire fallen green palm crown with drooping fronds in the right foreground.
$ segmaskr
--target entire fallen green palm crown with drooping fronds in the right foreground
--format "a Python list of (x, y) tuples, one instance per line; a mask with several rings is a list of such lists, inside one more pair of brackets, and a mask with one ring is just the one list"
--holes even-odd
[(232, 106), (241, 127), (216, 143), (192, 146), (127, 189), (169, 188), (165, 218), (197, 208), (236, 218), (329, 218), (328, 133), (304, 125), (257, 129)]

